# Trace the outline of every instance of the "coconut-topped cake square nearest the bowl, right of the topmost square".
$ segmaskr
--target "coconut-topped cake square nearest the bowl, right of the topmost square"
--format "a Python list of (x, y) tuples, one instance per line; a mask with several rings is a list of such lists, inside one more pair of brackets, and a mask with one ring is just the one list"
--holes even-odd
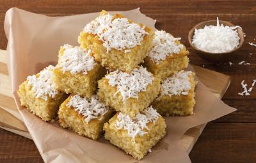
[(189, 52), (179, 39), (165, 31), (155, 32), (154, 46), (145, 59), (145, 67), (161, 80), (188, 67)]

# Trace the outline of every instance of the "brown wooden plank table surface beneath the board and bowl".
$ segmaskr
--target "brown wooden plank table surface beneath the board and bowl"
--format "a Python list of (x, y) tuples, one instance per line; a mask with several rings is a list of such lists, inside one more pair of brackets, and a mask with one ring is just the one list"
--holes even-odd
[[(195, 52), (190, 62), (231, 76), (231, 84), (223, 101), (237, 111), (210, 122), (189, 154), (192, 162), (256, 162), (256, 90), (251, 96), (239, 96), (241, 81), (248, 85), (256, 79), (256, 1), (0, 1), (0, 48), (6, 49), (4, 15), (12, 7), (49, 16), (76, 15), (100, 10), (131, 10), (157, 19), (157, 28), (182, 37), (188, 50), (188, 31), (198, 22), (219, 17), (240, 25), (246, 32), (243, 47), (230, 59), (234, 63), (213, 64), (200, 59)], [(253, 53), (249, 55), (249, 53)], [(251, 64), (239, 65), (245, 60)], [(33, 141), (0, 129), (0, 162), (43, 162)]]

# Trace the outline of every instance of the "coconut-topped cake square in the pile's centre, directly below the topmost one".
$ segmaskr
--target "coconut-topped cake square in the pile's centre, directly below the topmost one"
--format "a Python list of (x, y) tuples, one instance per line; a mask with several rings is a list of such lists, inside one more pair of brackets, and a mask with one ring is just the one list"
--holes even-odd
[(157, 97), (160, 80), (146, 68), (133, 69), (131, 73), (113, 71), (98, 81), (100, 99), (116, 111), (130, 117), (136, 116)]

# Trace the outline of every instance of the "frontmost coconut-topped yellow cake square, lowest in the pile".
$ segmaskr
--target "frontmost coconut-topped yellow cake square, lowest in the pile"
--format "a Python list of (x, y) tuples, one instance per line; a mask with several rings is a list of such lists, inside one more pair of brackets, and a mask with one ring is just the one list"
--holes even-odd
[(166, 134), (166, 123), (152, 107), (131, 118), (120, 112), (104, 124), (104, 137), (135, 159), (142, 159)]

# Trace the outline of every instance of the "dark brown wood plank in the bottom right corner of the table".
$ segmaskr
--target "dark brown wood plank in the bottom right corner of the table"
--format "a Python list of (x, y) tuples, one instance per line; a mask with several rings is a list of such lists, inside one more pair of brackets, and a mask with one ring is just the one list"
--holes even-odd
[(256, 125), (209, 123), (189, 154), (192, 162), (256, 162)]

